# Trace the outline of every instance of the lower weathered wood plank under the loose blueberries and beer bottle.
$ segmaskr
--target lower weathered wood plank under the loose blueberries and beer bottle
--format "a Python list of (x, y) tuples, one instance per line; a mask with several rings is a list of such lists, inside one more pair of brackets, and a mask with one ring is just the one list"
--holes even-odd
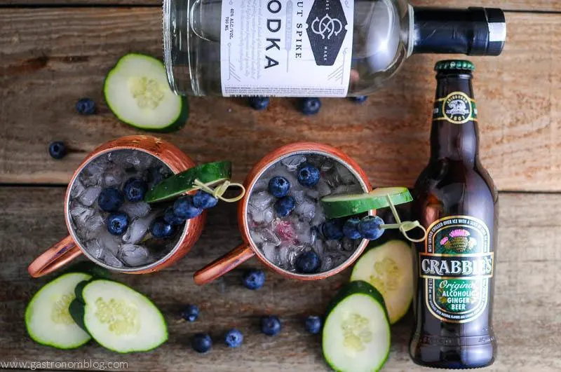
[[(119, 355), (90, 344), (60, 351), (35, 345), (22, 322), (25, 304), (48, 278), (34, 280), (27, 265), (48, 244), (65, 235), (62, 188), (1, 188), (0, 205), (0, 361), (126, 361), (129, 371), (323, 371), (320, 340), (306, 335), (302, 318), (320, 314), (349, 271), (316, 283), (285, 280), (268, 273), (265, 287), (248, 291), (241, 271), (196, 287), (191, 275), (238, 243), (235, 206), (212, 209), (208, 225), (194, 249), (180, 263), (152, 275), (116, 275), (148, 294), (163, 310), (170, 340), (147, 354)], [(499, 249), (496, 268), (494, 326), (499, 357), (489, 371), (558, 371), (561, 368), (561, 295), (551, 284), (561, 280), (561, 253), (554, 242), (561, 221), (561, 195), (501, 193)], [(539, 207), (536, 207), (539, 206)], [(27, 233), (22, 234), (22, 230)], [(257, 266), (255, 259), (245, 267)], [(182, 305), (198, 303), (200, 320), (178, 319)], [(283, 319), (280, 336), (259, 334), (260, 315)], [(243, 330), (239, 350), (221, 342), (230, 327)], [(384, 371), (424, 371), (407, 354), (412, 316), (393, 326), (391, 356)], [(215, 338), (215, 349), (198, 355), (189, 347), (197, 331)], [(123, 368), (124, 369), (124, 368)]]

